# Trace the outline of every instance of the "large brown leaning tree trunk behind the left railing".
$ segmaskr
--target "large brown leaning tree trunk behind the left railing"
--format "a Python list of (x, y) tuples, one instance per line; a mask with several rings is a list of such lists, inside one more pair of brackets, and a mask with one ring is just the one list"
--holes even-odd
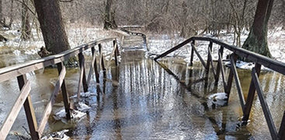
[(70, 49), (59, 0), (34, 0), (47, 51), (57, 54)]

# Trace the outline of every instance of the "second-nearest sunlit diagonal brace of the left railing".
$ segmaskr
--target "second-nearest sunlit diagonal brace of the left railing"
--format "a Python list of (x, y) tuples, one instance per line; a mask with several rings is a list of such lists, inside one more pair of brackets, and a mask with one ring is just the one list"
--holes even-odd
[(40, 124), (39, 128), (38, 128), (39, 135), (41, 135), (45, 129), (45, 125), (46, 125), (47, 120), (48, 120), (50, 113), (52, 111), (53, 104), (56, 101), (56, 96), (58, 95), (59, 89), (61, 88), (61, 85), (64, 81), (65, 74), (66, 74), (66, 69), (65, 69), (65, 67), (63, 67), (60, 74), (59, 74), (58, 81), (56, 82), (56, 86), (53, 90), (53, 93), (51, 94), (50, 100), (49, 100), (47, 106), (45, 107), (45, 111), (44, 111), (44, 115), (42, 116), (42, 120), (39, 123)]

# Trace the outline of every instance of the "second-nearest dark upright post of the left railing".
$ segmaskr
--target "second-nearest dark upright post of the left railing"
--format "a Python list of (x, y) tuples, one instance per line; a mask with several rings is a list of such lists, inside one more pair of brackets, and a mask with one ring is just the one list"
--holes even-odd
[[(58, 70), (58, 75), (59, 75), (61, 73), (61, 70), (65, 66), (63, 65), (63, 62), (57, 63), (56, 65), (57, 65), (57, 70)], [(65, 112), (66, 112), (66, 118), (67, 118), (67, 120), (70, 120), (71, 119), (70, 102), (69, 102), (68, 93), (66, 91), (65, 80), (62, 81), (61, 92), (62, 92), (62, 96), (63, 96), (63, 102), (64, 102), (64, 109), (65, 109)]]

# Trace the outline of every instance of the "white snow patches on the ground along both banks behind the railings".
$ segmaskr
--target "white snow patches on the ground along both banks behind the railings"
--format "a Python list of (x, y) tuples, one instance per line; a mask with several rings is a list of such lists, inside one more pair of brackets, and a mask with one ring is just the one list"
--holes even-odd
[[(73, 24), (68, 25), (66, 27), (66, 32), (69, 38), (69, 44), (72, 48), (79, 46), (81, 44), (88, 43), (90, 41), (97, 40), (99, 38), (110, 38), (115, 37), (115, 33), (113, 31), (106, 31), (103, 30), (101, 27), (94, 28), (92, 26), (86, 27), (84, 25), (80, 24)], [(19, 56), (21, 53), (25, 54), (37, 54), (37, 51), (41, 46), (44, 46), (44, 42), (42, 39), (42, 35), (40, 31), (37, 31), (35, 29), (32, 30), (33, 38), (31, 41), (22, 41), (20, 40), (21, 33), (17, 31), (16, 27), (13, 27), (12, 30), (6, 31), (6, 34), (9, 34), (9, 36), (12, 36), (12, 40), (9, 40), (7, 42), (0, 42), (1, 46), (12, 46), (14, 48), (19, 48), (13, 50), (13, 53), (16, 56)], [(179, 34), (173, 34), (173, 35), (154, 35), (154, 34), (148, 34), (148, 49), (149, 54), (151, 54), (151, 58), (155, 57), (157, 54), (161, 54), (168, 49), (176, 46), (177, 44), (183, 42), (186, 40), (186, 38), (183, 38), (179, 36)], [(212, 36), (211, 34), (205, 33), (203, 35), (204, 37), (211, 37), (219, 39), (223, 42), (226, 42), (228, 44), (233, 45), (234, 42), (234, 34), (233, 33), (226, 33), (226, 31), (221, 31), (221, 34), (219, 36)], [(241, 44), (246, 40), (248, 36), (248, 31), (244, 31), (241, 35)], [(207, 53), (208, 53), (208, 44), (207, 41), (197, 41), (197, 51), (201, 55), (203, 59), (207, 59)], [(120, 45), (120, 44), (119, 44)], [(235, 45), (235, 44), (234, 44)], [(105, 56), (107, 54), (111, 54), (113, 51), (113, 44), (112, 42), (102, 44), (103, 46), (103, 53)], [(270, 49), (270, 52), (274, 59), (285, 62), (285, 30), (281, 30), (281, 28), (276, 28), (274, 30), (269, 30), (268, 32), (268, 46)], [(179, 57), (184, 59), (186, 62), (190, 62), (190, 44), (187, 44), (186, 46), (182, 47), (181, 49), (176, 50), (175, 52), (172, 52), (171, 54), (168, 54), (168, 57)], [(98, 52), (98, 47), (95, 47), (96, 51)], [(213, 44), (213, 52), (212, 56), (214, 60), (218, 59), (218, 49), (219, 46), (216, 44)], [(22, 51), (25, 50), (25, 51)], [(232, 52), (224, 49), (224, 55), (223, 59), (226, 59), (228, 54), (231, 54)], [(90, 55), (91, 51), (86, 51), (85, 54)], [(110, 56), (106, 56), (105, 59), (109, 59)], [(195, 54), (194, 61), (199, 61), (198, 57)], [(244, 66), (239, 65), (241, 68), (251, 68), (250, 64), (243, 63)]]

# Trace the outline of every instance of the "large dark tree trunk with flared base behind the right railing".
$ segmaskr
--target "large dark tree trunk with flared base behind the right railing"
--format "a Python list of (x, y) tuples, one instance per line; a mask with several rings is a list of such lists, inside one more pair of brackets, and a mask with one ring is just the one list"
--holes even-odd
[(250, 33), (242, 48), (271, 57), (267, 45), (267, 24), (274, 0), (259, 0)]

